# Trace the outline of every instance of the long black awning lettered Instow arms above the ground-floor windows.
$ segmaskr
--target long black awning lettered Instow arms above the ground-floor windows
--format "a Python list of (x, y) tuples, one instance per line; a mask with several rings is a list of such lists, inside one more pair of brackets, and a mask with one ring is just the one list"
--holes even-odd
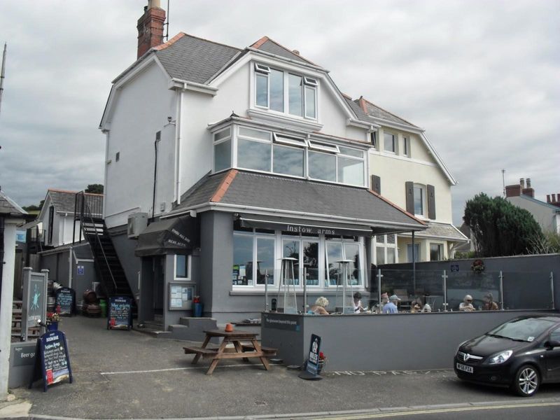
[(282, 230), (294, 234), (309, 235), (349, 235), (371, 236), (372, 229), (367, 225), (311, 221), (296, 218), (272, 218), (267, 216), (244, 214), (239, 218), (244, 228)]

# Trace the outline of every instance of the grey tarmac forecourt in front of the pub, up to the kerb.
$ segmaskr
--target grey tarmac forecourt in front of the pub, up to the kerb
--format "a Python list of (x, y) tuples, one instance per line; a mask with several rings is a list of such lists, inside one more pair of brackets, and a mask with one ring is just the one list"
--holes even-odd
[(68, 340), (73, 383), (46, 393), (40, 382), (15, 388), (15, 399), (0, 402), (0, 418), (296, 418), (560, 402), (560, 384), (519, 398), (459, 381), (452, 370), (328, 372), (327, 362), (323, 380), (304, 381), (283, 365), (266, 371), (258, 363), (221, 360), (207, 376), (209, 360), (192, 365), (193, 356), (183, 353), (188, 342), (106, 330), (104, 319), (83, 316), (63, 318), (59, 329)]

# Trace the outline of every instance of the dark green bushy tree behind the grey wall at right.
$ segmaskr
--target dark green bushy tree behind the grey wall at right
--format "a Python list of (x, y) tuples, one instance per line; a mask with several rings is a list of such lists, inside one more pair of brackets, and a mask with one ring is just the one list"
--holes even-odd
[(543, 237), (540, 226), (531, 213), (502, 197), (475, 195), (465, 206), (463, 220), (480, 257), (538, 253), (535, 243)]

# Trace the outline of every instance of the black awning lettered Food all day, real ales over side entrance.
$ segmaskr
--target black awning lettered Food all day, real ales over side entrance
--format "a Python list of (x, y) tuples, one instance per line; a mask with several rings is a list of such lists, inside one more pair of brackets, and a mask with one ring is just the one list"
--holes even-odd
[(167, 253), (190, 254), (199, 244), (198, 221), (190, 216), (152, 223), (138, 237), (137, 257)]

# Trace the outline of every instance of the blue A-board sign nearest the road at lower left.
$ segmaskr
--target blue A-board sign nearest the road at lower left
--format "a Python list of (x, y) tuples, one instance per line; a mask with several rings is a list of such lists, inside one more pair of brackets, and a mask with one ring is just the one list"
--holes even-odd
[(70, 356), (66, 336), (62, 331), (49, 331), (37, 339), (36, 353), (39, 357), (35, 358), (35, 370), (29, 388), (33, 386), (36, 379), (43, 379), (43, 391), (47, 387), (57, 384), (64, 379), (69, 379), (72, 383), (72, 369), (70, 367)]

